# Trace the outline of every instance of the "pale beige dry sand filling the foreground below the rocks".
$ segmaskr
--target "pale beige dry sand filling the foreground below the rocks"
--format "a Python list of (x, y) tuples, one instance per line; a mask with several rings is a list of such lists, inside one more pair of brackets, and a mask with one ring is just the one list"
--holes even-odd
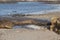
[(0, 30), (0, 40), (60, 40), (59, 38), (59, 35), (49, 30)]

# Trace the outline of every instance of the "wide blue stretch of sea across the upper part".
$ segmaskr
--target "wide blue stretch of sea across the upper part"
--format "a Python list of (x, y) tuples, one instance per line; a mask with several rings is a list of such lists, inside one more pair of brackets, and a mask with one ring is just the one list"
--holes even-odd
[[(43, 2), (17, 2), (17, 3), (1, 3), (0, 4), (0, 15), (9, 14), (33, 14), (39, 12), (45, 13), (46, 10), (58, 10), (60, 4), (44, 4)], [(37, 13), (36, 13), (37, 14)]]

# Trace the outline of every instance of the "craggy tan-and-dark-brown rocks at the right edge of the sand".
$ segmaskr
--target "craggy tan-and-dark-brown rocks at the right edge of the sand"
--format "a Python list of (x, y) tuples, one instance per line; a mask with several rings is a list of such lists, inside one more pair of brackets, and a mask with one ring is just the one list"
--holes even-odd
[(50, 30), (60, 34), (60, 17), (53, 17), (51, 19)]

